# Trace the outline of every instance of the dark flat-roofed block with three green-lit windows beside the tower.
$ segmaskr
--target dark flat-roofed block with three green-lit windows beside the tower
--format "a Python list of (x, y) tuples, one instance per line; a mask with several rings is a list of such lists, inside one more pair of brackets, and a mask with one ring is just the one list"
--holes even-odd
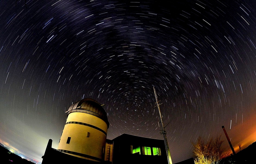
[(113, 164), (168, 163), (163, 140), (122, 134), (112, 142)]

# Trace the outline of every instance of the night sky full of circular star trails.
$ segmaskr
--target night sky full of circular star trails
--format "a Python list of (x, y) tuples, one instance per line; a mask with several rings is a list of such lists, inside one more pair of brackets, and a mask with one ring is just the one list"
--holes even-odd
[[(170, 3), (171, 2), (171, 3)], [(108, 139), (163, 139), (174, 163), (199, 136), (256, 141), (254, 0), (0, 1), (0, 140), (42, 161), (69, 106), (94, 98)]]

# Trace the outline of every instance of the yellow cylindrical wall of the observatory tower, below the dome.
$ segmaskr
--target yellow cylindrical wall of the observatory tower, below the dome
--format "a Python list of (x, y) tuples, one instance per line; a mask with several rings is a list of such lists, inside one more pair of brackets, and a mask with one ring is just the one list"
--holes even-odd
[(106, 122), (94, 115), (70, 113), (60, 137), (58, 150), (76, 157), (101, 161), (104, 158), (107, 130)]

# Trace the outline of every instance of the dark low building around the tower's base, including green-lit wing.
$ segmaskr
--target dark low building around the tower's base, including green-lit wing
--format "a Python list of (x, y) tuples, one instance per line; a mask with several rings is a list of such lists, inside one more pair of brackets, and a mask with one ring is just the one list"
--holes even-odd
[(167, 155), (165, 143), (163, 140), (145, 138), (130, 134), (122, 134), (113, 140), (106, 140), (106, 149), (104, 151), (104, 160), (95, 162), (70, 155), (72, 152), (63, 153), (52, 148), (50, 139), (42, 164), (49, 163), (86, 163), (86, 164), (141, 164), (141, 163), (159, 163), (167, 164)]

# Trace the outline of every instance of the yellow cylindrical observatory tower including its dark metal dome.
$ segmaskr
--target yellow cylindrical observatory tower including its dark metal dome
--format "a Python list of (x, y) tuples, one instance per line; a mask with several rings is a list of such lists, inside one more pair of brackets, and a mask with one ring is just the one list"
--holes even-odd
[(91, 161), (104, 160), (109, 121), (102, 106), (85, 98), (69, 107), (58, 151)]

